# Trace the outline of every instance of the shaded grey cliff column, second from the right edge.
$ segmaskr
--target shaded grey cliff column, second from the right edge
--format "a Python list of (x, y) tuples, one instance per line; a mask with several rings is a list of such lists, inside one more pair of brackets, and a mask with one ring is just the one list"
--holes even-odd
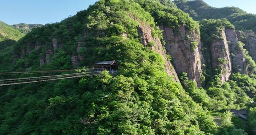
[(248, 74), (248, 68), (246, 66), (244, 53), (242, 48), (238, 45), (238, 38), (234, 29), (225, 29), (225, 34), (229, 42), (229, 50), (232, 58), (232, 68), (235, 72), (241, 74)]

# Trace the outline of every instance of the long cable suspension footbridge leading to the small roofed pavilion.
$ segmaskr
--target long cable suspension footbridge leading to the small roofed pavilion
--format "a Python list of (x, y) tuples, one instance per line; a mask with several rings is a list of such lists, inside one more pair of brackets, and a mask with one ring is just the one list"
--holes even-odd
[[(5, 75), (29, 75), (29, 74), (43, 74), (44, 76), (37, 77), (26, 77), (26, 78), (13, 78), (13, 79), (0, 79), (0, 86), (16, 85), (16, 84), (25, 84), (25, 83), (38, 83), (38, 82), (47, 82), (60, 79), (71, 79), (71, 78), (81, 78), (85, 76), (94, 76), (100, 74), (100, 72), (105, 71), (103, 68), (91, 68), (86, 69), (85, 71), (78, 72), (77, 70), (54, 70), (54, 71), (24, 71), (24, 72), (3, 72), (0, 73), (0, 76)], [(69, 72), (69, 73), (67, 73)], [(70, 73), (76, 72), (76, 73)], [(60, 75), (45, 75), (50, 73), (61, 73)], [(65, 74), (66, 73), (66, 74)], [(109, 71), (113, 74), (116, 71)]]

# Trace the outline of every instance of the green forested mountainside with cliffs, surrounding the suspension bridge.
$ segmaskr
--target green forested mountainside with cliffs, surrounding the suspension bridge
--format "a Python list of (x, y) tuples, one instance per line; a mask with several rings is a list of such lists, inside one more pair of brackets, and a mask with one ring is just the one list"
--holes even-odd
[(202, 0), (99, 0), (29, 31), (0, 23), (0, 79), (118, 64), (114, 75), (0, 86), (0, 135), (256, 135), (256, 37), (245, 31), (255, 31), (253, 17), (233, 16), (255, 15), (181, 10), (196, 1), (208, 14), (218, 9)]

